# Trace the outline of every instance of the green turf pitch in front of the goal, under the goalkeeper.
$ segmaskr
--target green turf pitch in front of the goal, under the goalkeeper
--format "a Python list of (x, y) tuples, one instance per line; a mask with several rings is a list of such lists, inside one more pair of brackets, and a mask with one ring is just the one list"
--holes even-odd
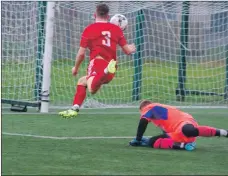
[[(186, 109), (185, 111), (191, 113), (200, 124), (228, 129), (228, 109)], [(2, 135), (2, 174), (226, 175), (228, 173), (227, 138), (199, 138), (197, 149), (192, 152), (129, 147), (128, 142), (136, 133), (138, 119), (139, 114), (136, 109), (82, 110), (75, 119), (62, 119), (55, 114), (3, 114), (2, 132), (22, 135)], [(159, 133), (159, 129), (149, 125), (146, 135)], [(23, 134), (37, 135), (39, 138)], [(129, 136), (129, 138), (50, 138), (88, 136)]]

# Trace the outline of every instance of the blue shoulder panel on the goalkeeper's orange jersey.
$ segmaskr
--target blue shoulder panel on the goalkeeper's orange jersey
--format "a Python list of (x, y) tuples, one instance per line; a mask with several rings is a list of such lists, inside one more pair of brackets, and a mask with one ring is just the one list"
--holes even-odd
[(168, 119), (168, 109), (161, 106), (154, 106), (146, 114), (143, 115), (148, 119), (160, 119), (167, 120)]

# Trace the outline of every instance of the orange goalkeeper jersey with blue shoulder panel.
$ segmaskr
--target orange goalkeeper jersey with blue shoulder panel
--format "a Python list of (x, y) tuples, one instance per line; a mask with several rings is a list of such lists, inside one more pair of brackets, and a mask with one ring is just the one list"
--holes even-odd
[(194, 118), (181, 110), (164, 104), (152, 103), (140, 111), (141, 118), (154, 123), (166, 133), (174, 132), (185, 121), (194, 122)]

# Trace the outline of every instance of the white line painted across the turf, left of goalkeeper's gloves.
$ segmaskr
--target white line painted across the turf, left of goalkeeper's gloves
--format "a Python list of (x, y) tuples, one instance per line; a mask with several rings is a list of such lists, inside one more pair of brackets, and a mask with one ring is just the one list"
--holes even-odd
[(6, 136), (22, 136), (22, 137), (32, 137), (32, 138), (41, 138), (41, 139), (55, 139), (55, 140), (82, 140), (82, 139), (133, 139), (133, 136), (78, 136), (78, 137), (58, 137), (58, 136), (41, 136), (41, 135), (33, 135), (33, 134), (22, 134), (22, 133), (7, 133), (2, 132), (3, 135)]

